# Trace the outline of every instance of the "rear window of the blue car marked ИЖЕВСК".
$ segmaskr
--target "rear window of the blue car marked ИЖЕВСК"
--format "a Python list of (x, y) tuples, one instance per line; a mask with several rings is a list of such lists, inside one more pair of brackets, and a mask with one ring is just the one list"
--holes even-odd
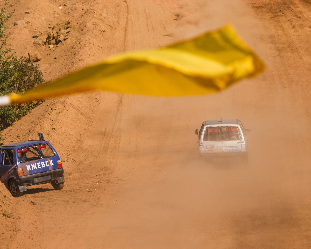
[(35, 161), (47, 157), (54, 157), (53, 150), (47, 143), (31, 145), (18, 149), (18, 160), (20, 163)]

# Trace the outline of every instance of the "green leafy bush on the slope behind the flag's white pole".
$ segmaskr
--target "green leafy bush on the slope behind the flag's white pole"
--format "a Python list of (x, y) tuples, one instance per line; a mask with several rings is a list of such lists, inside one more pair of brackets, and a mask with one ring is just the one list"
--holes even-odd
[[(7, 1), (5, 1), (5, 5)], [(4, 34), (5, 24), (13, 12), (6, 14), (5, 5), (0, 10), (0, 96), (6, 94), (24, 93), (43, 83), (42, 73), (26, 57), (18, 58), (11, 48), (6, 48), (7, 37)], [(34, 38), (34, 37), (33, 37)], [(0, 131), (12, 125), (26, 115), (39, 102), (28, 102), (22, 105), (12, 105), (0, 108)], [(0, 135), (0, 145), (1, 142)]]

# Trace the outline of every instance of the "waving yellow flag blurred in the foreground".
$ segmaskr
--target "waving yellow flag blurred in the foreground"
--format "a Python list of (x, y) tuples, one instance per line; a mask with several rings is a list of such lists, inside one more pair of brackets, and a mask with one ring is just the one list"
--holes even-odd
[(115, 55), (6, 98), (15, 104), (94, 90), (151, 96), (209, 94), (263, 69), (256, 54), (231, 26), (225, 26), (163, 48)]

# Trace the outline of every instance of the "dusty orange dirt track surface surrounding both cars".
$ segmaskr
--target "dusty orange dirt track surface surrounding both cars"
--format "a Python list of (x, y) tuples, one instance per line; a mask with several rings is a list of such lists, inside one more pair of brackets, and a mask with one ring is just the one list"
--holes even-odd
[[(34, 2), (32, 8), (40, 9)], [(66, 57), (40, 62), (46, 79), (228, 22), (267, 70), (211, 96), (89, 93), (41, 104), (3, 135), (9, 142), (43, 132), (61, 154), (66, 185), (59, 191), (31, 187), (20, 198), (4, 198), (14, 216), (0, 219), (0, 248), (311, 246), (311, 5), (204, 2), (87, 1), (68, 11), (75, 45), (65, 47)], [(17, 16), (23, 4), (14, 5)], [(49, 7), (60, 12), (61, 4), (51, 1)], [(40, 11), (46, 19), (55, 14), (49, 17), (44, 5)], [(23, 32), (10, 26), (9, 39), (28, 37)], [(16, 47), (17, 53), (25, 53), (27, 44)], [(56, 49), (50, 53), (59, 54)], [(239, 118), (252, 129), (248, 165), (198, 160), (194, 130), (220, 117)]]

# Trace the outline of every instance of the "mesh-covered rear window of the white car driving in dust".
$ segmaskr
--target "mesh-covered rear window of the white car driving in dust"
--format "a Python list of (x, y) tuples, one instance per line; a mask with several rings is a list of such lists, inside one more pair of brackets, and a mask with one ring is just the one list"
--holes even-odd
[(203, 141), (235, 141), (241, 140), (238, 126), (210, 126), (206, 127)]

